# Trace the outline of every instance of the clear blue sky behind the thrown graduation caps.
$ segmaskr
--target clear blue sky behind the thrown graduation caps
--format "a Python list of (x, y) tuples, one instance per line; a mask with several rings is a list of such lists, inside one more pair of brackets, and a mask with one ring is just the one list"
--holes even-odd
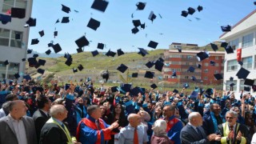
[[(85, 51), (98, 50), (106, 52), (122, 49), (124, 52), (138, 51), (138, 47), (154, 50), (148, 47), (150, 41), (158, 42), (156, 49), (168, 49), (172, 42), (192, 43), (205, 46), (218, 41), (222, 34), (221, 26), (234, 26), (242, 18), (255, 9), (252, 0), (108, 0), (108, 6), (103, 13), (91, 7), (94, 0), (34, 0), (31, 18), (37, 18), (37, 25), (30, 27), (29, 46), (39, 53), (49, 48), (51, 41), (59, 44), (62, 51), (77, 53), (78, 46), (74, 42), (83, 35), (90, 41)], [(144, 10), (137, 10), (137, 2), (146, 2)], [(62, 11), (62, 5), (70, 7), (71, 12)], [(193, 15), (182, 17), (182, 10), (189, 7), (197, 9)], [(75, 12), (76, 10), (77, 12)], [(153, 11), (157, 18), (154, 22), (148, 19)], [(131, 15), (134, 15), (134, 18)], [(69, 23), (57, 23), (62, 17), (70, 17)], [(162, 18), (161, 18), (162, 17)], [(87, 27), (90, 18), (101, 22), (97, 30)], [(139, 28), (137, 34), (132, 34), (132, 20), (140, 19), (146, 23), (145, 30)], [(45, 35), (40, 37), (39, 31)], [(58, 36), (54, 38), (54, 30)], [(37, 45), (30, 45), (31, 39), (38, 38)], [(104, 50), (97, 49), (98, 42), (104, 43)]]

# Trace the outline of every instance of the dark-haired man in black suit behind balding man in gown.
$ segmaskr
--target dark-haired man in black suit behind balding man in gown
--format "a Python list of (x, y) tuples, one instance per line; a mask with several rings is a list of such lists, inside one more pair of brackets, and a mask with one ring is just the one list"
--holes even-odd
[(37, 138), (39, 141), (42, 126), (50, 118), (49, 110), (51, 106), (51, 101), (49, 98), (42, 96), (37, 99), (37, 102), (38, 102), (38, 110), (34, 112), (33, 119), (34, 119), (35, 130), (37, 133)]

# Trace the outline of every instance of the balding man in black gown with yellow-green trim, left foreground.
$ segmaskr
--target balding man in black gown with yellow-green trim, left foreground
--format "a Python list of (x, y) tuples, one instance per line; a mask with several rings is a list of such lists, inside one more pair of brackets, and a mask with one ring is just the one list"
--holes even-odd
[(54, 105), (50, 108), (51, 118), (42, 126), (39, 144), (79, 143), (71, 138), (70, 132), (63, 123), (67, 110), (63, 105)]

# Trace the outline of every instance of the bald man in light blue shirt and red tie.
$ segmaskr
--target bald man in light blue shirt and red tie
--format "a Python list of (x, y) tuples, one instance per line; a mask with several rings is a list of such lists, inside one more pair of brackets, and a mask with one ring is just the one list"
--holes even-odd
[(129, 125), (123, 127), (118, 135), (119, 144), (135, 144), (144, 143), (149, 141), (146, 129), (141, 125), (141, 117), (138, 114), (128, 115)]

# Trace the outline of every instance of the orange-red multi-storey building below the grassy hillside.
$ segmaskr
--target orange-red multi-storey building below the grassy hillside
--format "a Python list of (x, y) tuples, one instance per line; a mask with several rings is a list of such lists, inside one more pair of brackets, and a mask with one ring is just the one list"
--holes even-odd
[[(222, 84), (222, 80), (216, 80), (214, 74), (223, 73), (224, 52), (210, 51), (210, 58), (198, 62), (195, 50), (166, 50), (164, 53), (166, 66), (164, 67), (163, 78), (172, 83), (199, 82), (204, 85)], [(215, 62), (215, 66), (210, 65), (210, 61)], [(201, 68), (198, 68), (198, 64)], [(190, 66), (195, 68), (194, 72), (188, 72)], [(177, 77), (172, 77), (173, 70), (176, 70)], [(193, 81), (192, 76), (197, 80)]]

